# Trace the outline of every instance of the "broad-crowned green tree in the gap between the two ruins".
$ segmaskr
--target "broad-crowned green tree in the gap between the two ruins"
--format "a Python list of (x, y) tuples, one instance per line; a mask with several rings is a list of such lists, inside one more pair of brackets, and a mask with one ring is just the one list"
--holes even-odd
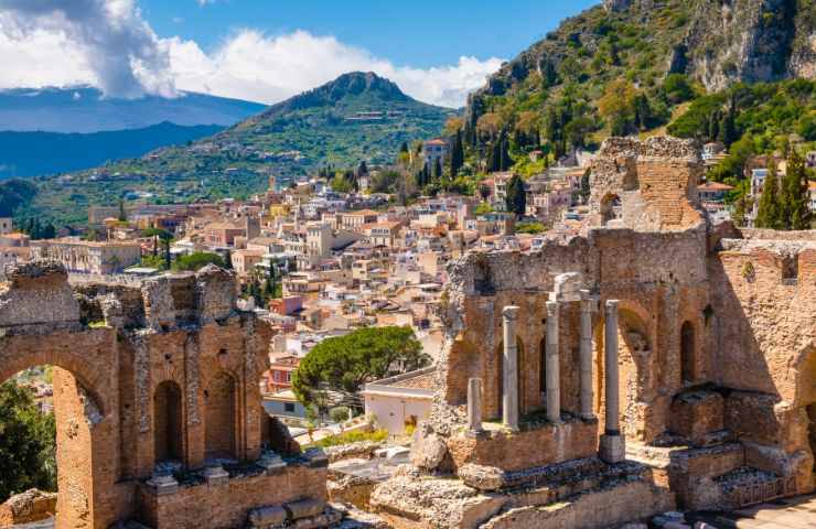
[(336, 403), (359, 408), (363, 384), (419, 369), (430, 361), (410, 327), (366, 327), (328, 338), (303, 358), (292, 390), (321, 412)]

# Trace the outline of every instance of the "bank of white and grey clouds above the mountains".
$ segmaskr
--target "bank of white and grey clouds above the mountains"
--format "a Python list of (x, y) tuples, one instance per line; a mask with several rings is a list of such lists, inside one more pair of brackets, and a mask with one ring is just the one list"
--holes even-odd
[(449, 107), (463, 105), (502, 64), (460, 57), (431, 68), (398, 66), (332, 36), (305, 31), (270, 36), (250, 29), (207, 53), (194, 41), (158, 37), (132, 0), (0, 0), (0, 56), (3, 88), (90, 84), (111, 96), (182, 89), (272, 104), (363, 71)]

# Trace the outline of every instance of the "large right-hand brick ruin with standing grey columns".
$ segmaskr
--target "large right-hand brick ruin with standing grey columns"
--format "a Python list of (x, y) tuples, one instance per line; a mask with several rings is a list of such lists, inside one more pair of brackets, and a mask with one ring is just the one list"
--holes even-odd
[(450, 267), (396, 528), (614, 527), (813, 490), (816, 235), (712, 225), (690, 141), (611, 139), (583, 236)]

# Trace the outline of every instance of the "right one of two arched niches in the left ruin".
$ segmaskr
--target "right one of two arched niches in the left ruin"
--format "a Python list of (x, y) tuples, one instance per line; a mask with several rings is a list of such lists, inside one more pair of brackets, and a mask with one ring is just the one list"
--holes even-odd
[(204, 456), (235, 460), (235, 379), (221, 371), (204, 391)]

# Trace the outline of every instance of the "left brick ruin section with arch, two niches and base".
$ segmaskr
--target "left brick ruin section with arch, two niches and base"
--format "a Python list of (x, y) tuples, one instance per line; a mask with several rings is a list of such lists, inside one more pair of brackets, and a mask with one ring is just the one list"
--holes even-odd
[(72, 285), (0, 282), (0, 380), (55, 366), (57, 528), (325, 527), (326, 460), (261, 408), (270, 330), (222, 269)]

